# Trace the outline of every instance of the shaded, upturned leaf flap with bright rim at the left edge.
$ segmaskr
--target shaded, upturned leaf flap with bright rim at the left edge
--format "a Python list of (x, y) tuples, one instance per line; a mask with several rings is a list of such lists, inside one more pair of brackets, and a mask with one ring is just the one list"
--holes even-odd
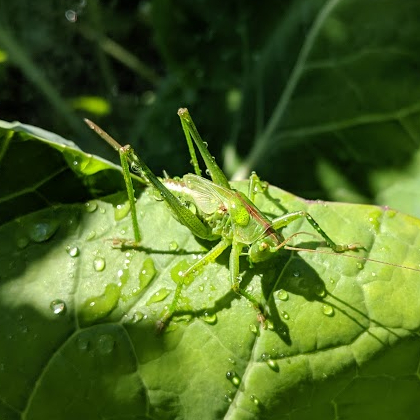
[(119, 168), (57, 134), (0, 120), (0, 224), (123, 188)]

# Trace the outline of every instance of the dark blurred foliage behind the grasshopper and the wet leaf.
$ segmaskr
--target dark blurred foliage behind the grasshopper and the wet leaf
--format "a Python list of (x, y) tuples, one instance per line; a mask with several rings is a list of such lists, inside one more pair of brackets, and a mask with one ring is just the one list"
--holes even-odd
[(418, 0), (0, 0), (0, 118), (158, 174), (187, 106), (231, 178), (420, 216)]

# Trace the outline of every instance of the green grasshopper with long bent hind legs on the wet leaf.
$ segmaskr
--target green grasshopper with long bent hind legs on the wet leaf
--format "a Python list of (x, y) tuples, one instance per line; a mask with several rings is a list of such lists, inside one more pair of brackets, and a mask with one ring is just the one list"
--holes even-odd
[[(263, 185), (258, 176), (255, 173), (251, 175), (247, 195), (231, 188), (225, 174), (209, 153), (207, 144), (198, 133), (188, 110), (180, 108), (178, 115), (181, 119), (195, 171), (195, 174), (184, 175), (179, 181), (160, 180), (131, 146), (121, 146), (96, 124), (85, 119), (88, 126), (120, 154), (135, 237), (134, 242), (130, 242), (130, 246), (140, 246), (141, 236), (137, 224), (129, 166), (133, 172), (139, 174), (156, 190), (169, 205), (174, 217), (186, 226), (194, 236), (209, 241), (219, 239), (217, 245), (210, 249), (203, 258), (182, 272), (172, 303), (161, 317), (159, 326), (161, 329), (164, 328), (176, 312), (186, 280), (204, 265), (214, 262), (223, 251), (230, 247), (229, 280), (231, 288), (235, 293), (251, 302), (257, 312), (258, 320), (265, 327), (266, 314), (262, 304), (251, 293), (240, 287), (240, 256), (247, 256), (249, 263), (254, 264), (272, 258), (281, 248), (296, 249), (287, 246), (291, 237), (285, 238), (281, 229), (300, 218), (305, 218), (309, 222), (334, 253), (356, 250), (361, 246), (359, 244), (336, 244), (313, 217), (305, 211), (287, 213), (270, 220), (254, 204), (258, 187)], [(194, 144), (204, 160), (207, 167), (206, 173), (211, 180), (202, 177)], [(191, 205), (195, 208), (195, 212), (190, 210), (189, 206)]]

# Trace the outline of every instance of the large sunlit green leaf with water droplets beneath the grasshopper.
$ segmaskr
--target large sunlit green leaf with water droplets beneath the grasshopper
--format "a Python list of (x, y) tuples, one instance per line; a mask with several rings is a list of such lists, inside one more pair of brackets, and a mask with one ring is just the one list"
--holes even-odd
[[(4, 133), (8, 150), (22, 142)], [(44, 135), (42, 145), (109, 170)], [(74, 170), (74, 160), (65, 162)], [(297, 246), (328, 253), (283, 250), (253, 268), (244, 259), (243, 287), (271, 314), (273, 327), (261, 330), (254, 309), (230, 290), (223, 254), (184, 289), (159, 335), (174, 273), (213, 244), (198, 242), (152, 191), (137, 205), (141, 251), (111, 247), (112, 238), (132, 237), (120, 194), (0, 228), (2, 418), (417, 418), (420, 282), (406, 267), (420, 264), (419, 220), (270, 187), (257, 196), (267, 214), (308, 210), (338, 242), (363, 244), (350, 255), (397, 266), (331, 254), (305, 236)], [(302, 231), (312, 233), (297, 222), (285, 235)]]

